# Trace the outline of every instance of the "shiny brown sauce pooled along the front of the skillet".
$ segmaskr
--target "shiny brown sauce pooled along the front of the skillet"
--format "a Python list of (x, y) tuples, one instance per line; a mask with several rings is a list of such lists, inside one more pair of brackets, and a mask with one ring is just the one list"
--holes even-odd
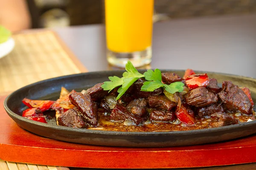
[[(239, 119), (239, 121), (247, 122), (248, 119), (255, 119), (254, 115), (245, 115), (240, 112), (228, 113), (230, 116)], [(179, 124), (169, 122), (145, 122), (143, 125), (124, 125), (124, 121), (112, 122), (108, 115), (99, 113), (99, 125), (97, 127), (87, 127), (87, 129), (94, 130), (111, 130), (121, 132), (164, 132), (164, 131), (181, 131), (181, 130), (196, 130), (209, 128), (209, 122), (212, 121), (210, 118), (199, 118), (195, 117), (195, 125), (188, 126), (182, 122)], [(177, 122), (177, 120), (176, 120)], [(130, 122), (131, 123), (131, 122)], [(177, 122), (178, 123), (178, 122)], [(132, 124), (132, 123), (131, 123)]]

